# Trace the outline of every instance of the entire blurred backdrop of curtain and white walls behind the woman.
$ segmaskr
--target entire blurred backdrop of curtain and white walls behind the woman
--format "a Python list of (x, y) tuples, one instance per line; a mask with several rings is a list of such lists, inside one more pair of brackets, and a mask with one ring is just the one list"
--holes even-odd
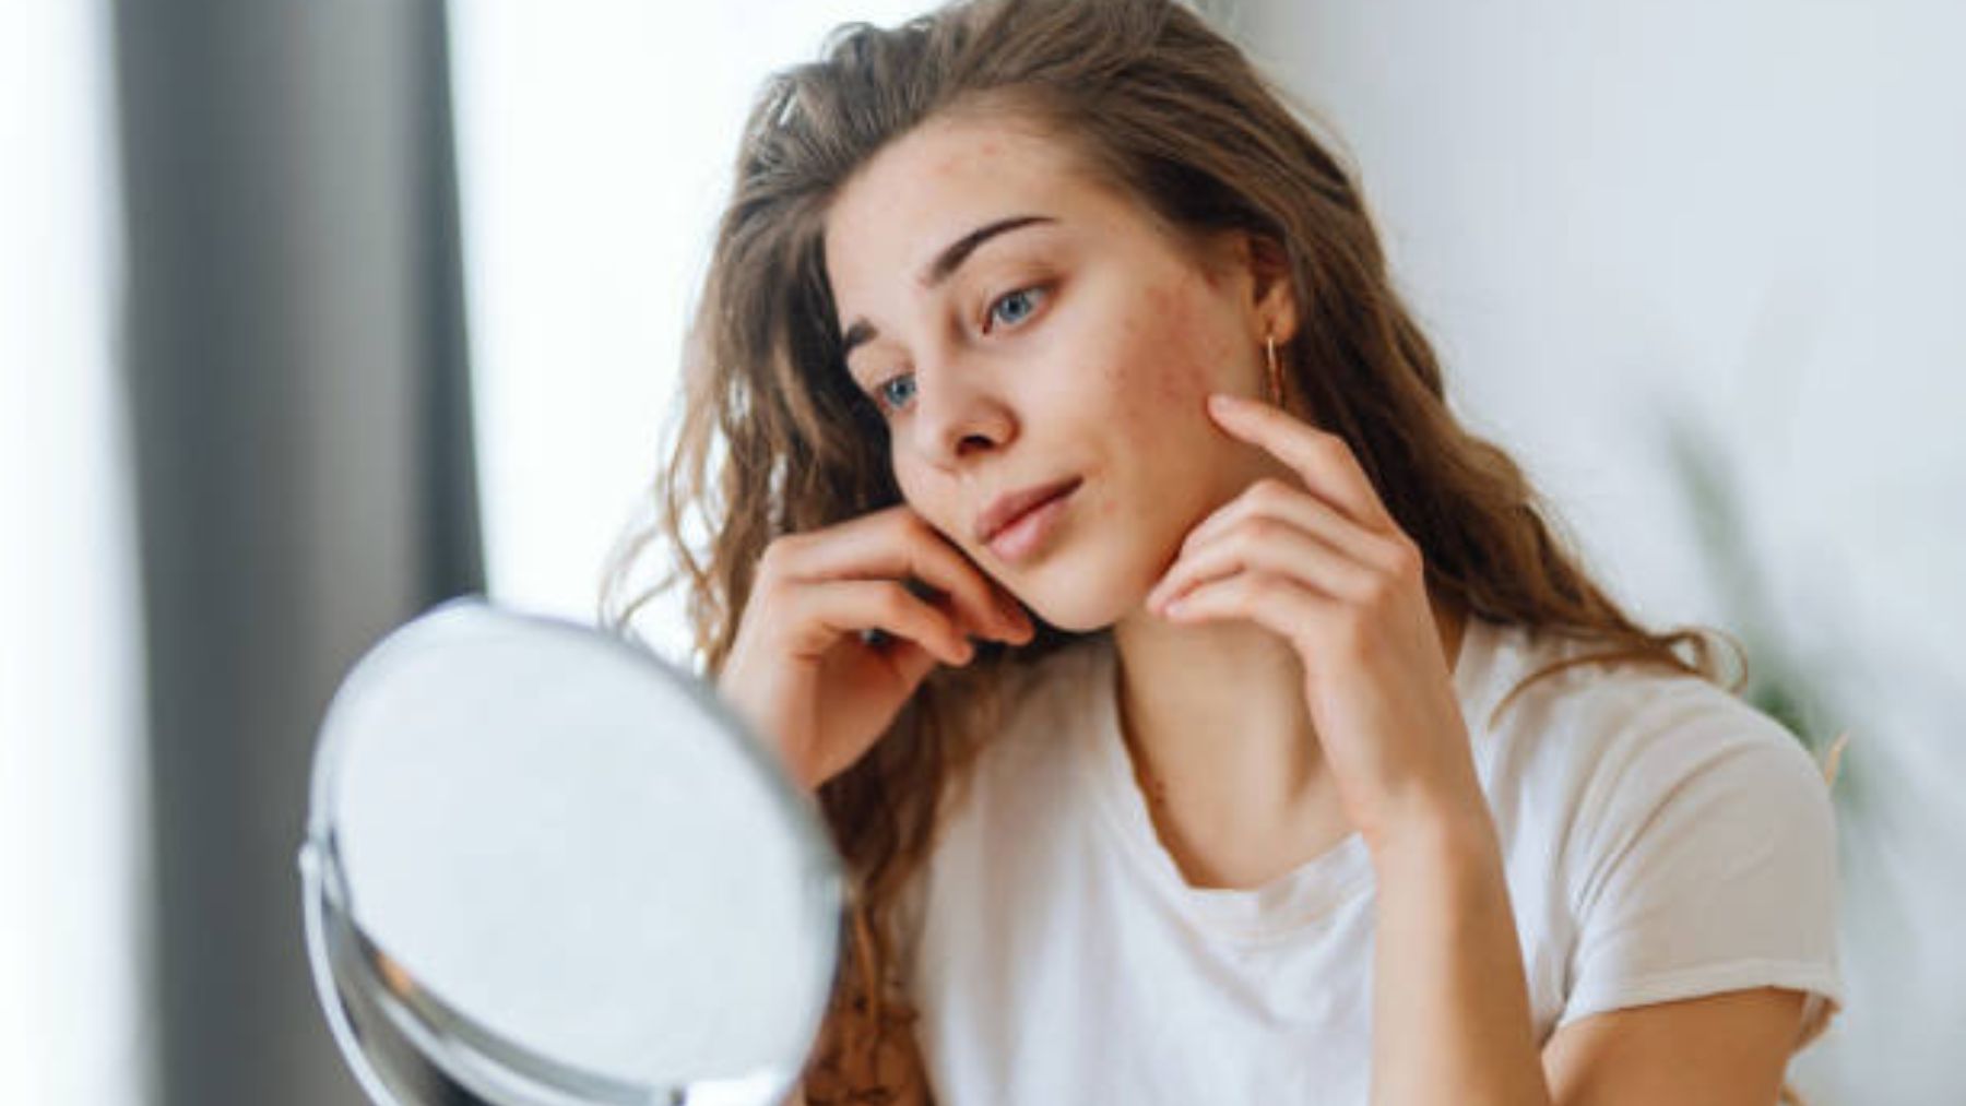
[[(1797, 1086), (1966, 1100), (1966, 16), (1199, 6), (1606, 585), (1848, 735)], [(448, 595), (594, 619), (749, 94), (920, 8), (0, 6), (0, 1102), (360, 1100), (297, 910), (328, 695)]]

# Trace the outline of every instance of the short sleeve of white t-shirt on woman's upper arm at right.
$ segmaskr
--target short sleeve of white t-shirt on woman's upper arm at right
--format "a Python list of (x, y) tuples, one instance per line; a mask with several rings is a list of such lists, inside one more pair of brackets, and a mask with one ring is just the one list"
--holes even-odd
[(1781, 986), (1797, 1047), (1844, 1000), (1828, 784), (1718, 688), (1673, 695), (1590, 772), (1567, 857), (1577, 943), (1557, 1027), (1624, 1006)]

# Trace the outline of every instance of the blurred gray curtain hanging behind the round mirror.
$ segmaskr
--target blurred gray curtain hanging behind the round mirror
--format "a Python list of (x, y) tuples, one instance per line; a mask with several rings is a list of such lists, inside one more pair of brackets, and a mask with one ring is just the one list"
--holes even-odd
[(444, 10), (116, 0), (153, 1100), (360, 1102), (299, 923), (315, 727), (480, 591)]

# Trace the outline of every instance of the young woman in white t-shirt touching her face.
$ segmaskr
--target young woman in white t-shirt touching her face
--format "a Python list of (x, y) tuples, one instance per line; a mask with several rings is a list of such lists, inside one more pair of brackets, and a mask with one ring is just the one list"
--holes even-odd
[(751, 114), (659, 501), (853, 874), (802, 1092), (1773, 1102), (1826, 788), (1461, 426), (1286, 104), (1166, 0), (1007, 0)]

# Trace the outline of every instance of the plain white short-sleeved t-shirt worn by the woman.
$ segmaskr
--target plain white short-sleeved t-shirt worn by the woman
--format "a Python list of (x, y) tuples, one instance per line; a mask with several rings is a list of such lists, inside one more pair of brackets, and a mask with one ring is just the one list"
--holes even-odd
[[(1695, 676), (1471, 619), (1453, 684), (1522, 939), (1535, 1039), (1734, 988), (1844, 998), (1836, 827), (1773, 719)], [(900, 900), (904, 994), (942, 1106), (1366, 1102), (1372, 858), (1353, 833), (1262, 888), (1189, 886), (1117, 725), (1111, 633), (1012, 691)], [(1828, 1004), (1828, 1006), (1824, 1006)]]

